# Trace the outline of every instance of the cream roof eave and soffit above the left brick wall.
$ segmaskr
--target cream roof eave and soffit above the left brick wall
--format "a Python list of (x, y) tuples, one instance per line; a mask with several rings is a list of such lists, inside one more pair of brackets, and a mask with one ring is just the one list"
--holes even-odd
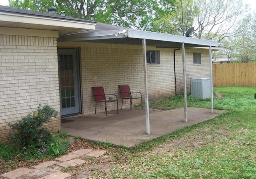
[(89, 20), (0, 6), (1, 27), (55, 30), (59, 31), (59, 35), (65, 35), (94, 30), (95, 24)]

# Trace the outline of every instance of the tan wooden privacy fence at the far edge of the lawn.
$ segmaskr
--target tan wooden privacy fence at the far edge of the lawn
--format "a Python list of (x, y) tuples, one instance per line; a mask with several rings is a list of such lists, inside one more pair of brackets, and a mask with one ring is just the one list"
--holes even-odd
[(256, 86), (256, 63), (212, 64), (214, 87)]

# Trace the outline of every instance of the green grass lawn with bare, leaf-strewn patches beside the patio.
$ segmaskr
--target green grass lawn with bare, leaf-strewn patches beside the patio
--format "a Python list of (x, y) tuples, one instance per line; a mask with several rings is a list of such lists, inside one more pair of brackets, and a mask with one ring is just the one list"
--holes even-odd
[[(134, 148), (109, 147), (109, 171), (95, 178), (113, 179), (256, 179), (255, 87), (214, 88), (219, 117), (177, 130)], [(183, 96), (150, 103), (168, 110)], [(210, 100), (188, 96), (188, 106), (210, 108)]]

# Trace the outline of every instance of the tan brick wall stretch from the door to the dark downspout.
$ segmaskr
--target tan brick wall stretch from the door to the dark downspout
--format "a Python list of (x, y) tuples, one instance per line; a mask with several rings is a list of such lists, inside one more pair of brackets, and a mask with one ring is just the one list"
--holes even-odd
[[(117, 47), (82, 47), (82, 92), (84, 114), (95, 110), (95, 101), (91, 87), (103, 86), (106, 93), (118, 95), (121, 107), (121, 96), (118, 85), (129, 85), (132, 91), (140, 91), (144, 103), (144, 57), (142, 47), (126, 49)], [(174, 96), (173, 52), (160, 52), (160, 65), (147, 65), (149, 100)], [(129, 100), (124, 100), (124, 108), (129, 107)], [(140, 100), (134, 100), (140, 103)], [(107, 104), (110, 110), (116, 104)], [(104, 104), (97, 104), (97, 111), (104, 111)]]

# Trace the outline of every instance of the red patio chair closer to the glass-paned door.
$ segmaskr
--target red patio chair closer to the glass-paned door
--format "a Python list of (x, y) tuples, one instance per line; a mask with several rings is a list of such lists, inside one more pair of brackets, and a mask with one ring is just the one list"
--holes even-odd
[(118, 114), (118, 98), (117, 98), (116, 94), (107, 94), (107, 95), (116, 96), (116, 100), (113, 100), (112, 97), (110, 97), (109, 100), (107, 100), (103, 87), (92, 87), (92, 91), (93, 91), (93, 95), (94, 95), (94, 98), (95, 98), (95, 114), (96, 114), (97, 102), (105, 102), (106, 116), (108, 115), (107, 102), (116, 102), (117, 114)]

